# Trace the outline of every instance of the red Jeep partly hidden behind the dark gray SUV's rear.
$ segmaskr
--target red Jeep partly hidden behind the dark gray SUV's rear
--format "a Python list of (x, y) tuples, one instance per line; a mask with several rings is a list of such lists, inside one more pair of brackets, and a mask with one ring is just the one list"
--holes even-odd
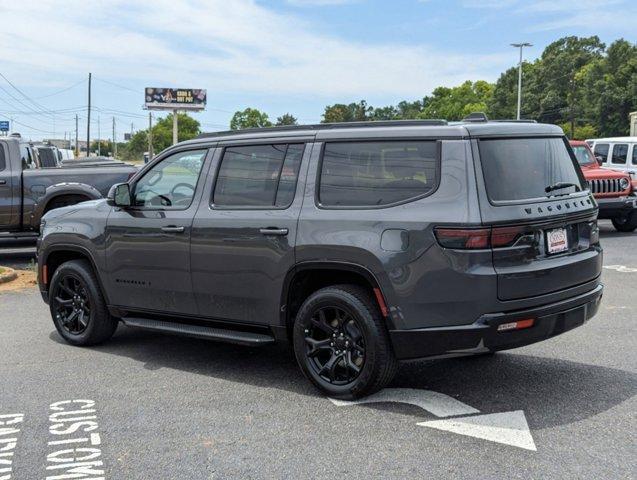
[(630, 175), (600, 167), (586, 142), (572, 140), (571, 147), (599, 205), (598, 218), (610, 219), (620, 232), (634, 231), (637, 228), (637, 196)]

